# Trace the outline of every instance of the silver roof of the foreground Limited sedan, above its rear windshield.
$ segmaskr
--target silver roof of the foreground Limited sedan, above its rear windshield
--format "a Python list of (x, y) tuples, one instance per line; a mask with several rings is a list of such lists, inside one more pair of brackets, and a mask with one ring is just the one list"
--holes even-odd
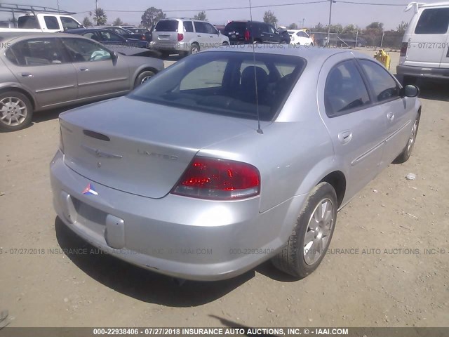
[[(226, 46), (222, 48), (211, 48), (201, 53), (211, 53), (214, 51), (237, 52), (237, 53), (252, 53), (253, 45), (235, 45)], [(254, 48), (255, 53), (276, 54), (276, 55), (292, 55), (304, 58), (307, 62), (324, 62), (327, 58), (333, 55), (345, 53), (348, 56), (352, 55), (356, 58), (369, 58), (367, 55), (358, 51), (352, 51), (342, 48), (317, 48), (317, 47), (295, 47), (287, 44), (258, 44)]]

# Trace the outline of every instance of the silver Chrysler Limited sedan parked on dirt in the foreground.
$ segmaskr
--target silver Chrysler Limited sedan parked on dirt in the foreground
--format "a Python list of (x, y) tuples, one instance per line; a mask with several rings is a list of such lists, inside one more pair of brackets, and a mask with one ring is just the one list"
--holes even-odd
[(361, 53), (256, 51), (197, 53), (126, 97), (62, 113), (62, 221), (173, 277), (226, 279), (269, 258), (313, 272), (337, 210), (410, 157), (418, 90)]

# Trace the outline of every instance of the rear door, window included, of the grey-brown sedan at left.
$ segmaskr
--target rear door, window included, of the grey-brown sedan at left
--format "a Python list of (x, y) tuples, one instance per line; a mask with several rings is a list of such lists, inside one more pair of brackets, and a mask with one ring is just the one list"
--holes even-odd
[(60, 39), (19, 41), (6, 50), (8, 67), (41, 107), (76, 99), (76, 72)]

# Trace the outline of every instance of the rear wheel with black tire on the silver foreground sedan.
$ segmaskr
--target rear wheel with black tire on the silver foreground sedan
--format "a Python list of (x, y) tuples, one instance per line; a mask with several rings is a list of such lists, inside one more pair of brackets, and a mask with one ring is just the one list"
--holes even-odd
[[(330, 223), (330, 231), (328, 232), (328, 234), (326, 234), (326, 236), (319, 230), (308, 230), (309, 223), (314, 224), (314, 226), (316, 225), (316, 228), (321, 228), (321, 225), (317, 225), (317, 223), (314, 222), (312, 218), (319, 205), (324, 204), (323, 201), (326, 203), (330, 201), (330, 204), (332, 206), (332, 212), (330, 213), (332, 218), (326, 221), (326, 223)], [(327, 206), (329, 206), (329, 204), (326, 204), (326, 207)], [(288, 238), (288, 241), (283, 246), (281, 251), (276, 256), (274, 256), (274, 258), (272, 258), (272, 263), (274, 264), (274, 266), (279, 270), (286, 272), (287, 274), (292, 275), (293, 277), (296, 277), (298, 279), (307, 277), (307, 275), (311, 274), (311, 272), (314, 272), (314, 270), (316, 270), (316, 268), (321, 263), (321, 260), (323, 260), (324, 256), (326, 256), (326, 251), (328, 250), (328, 246), (335, 229), (335, 223), (337, 221), (337, 208), (337, 194), (335, 193), (332, 185), (330, 185), (329, 183), (319, 183), (319, 185), (316, 185), (314, 190), (311, 190), (309, 197), (307, 197), (307, 201), (304, 204), (300, 216), (298, 216), (296, 220), (295, 228)], [(304, 256), (304, 252), (306, 251), (306, 247), (304, 246), (306, 232), (309, 233), (309, 237), (310, 234), (312, 237), (314, 237), (314, 242), (317, 241), (317, 237), (327, 238), (326, 243), (323, 243), (321, 249), (313, 250), (321, 251), (321, 253), (319, 256), (314, 255), (314, 258), (316, 258), (316, 260), (314, 260), (313, 262), (309, 261), (309, 263), (306, 262), (306, 257)], [(313, 252), (312, 249), (310, 249), (310, 251)]]

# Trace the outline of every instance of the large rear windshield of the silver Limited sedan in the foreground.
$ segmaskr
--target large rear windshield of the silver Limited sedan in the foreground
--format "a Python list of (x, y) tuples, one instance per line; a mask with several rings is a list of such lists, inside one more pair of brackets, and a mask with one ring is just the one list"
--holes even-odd
[[(129, 97), (232, 117), (271, 121), (305, 67), (297, 56), (214, 51), (185, 58)], [(258, 104), (256, 104), (258, 103)]]

